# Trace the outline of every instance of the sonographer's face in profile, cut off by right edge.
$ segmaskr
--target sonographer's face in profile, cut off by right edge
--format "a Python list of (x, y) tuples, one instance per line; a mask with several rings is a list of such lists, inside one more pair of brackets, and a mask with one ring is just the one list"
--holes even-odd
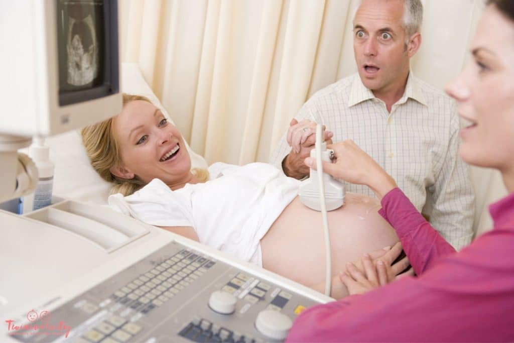
[(466, 123), (460, 155), (500, 171), (514, 167), (514, 23), (487, 6), (471, 44), (472, 61), (446, 86)]

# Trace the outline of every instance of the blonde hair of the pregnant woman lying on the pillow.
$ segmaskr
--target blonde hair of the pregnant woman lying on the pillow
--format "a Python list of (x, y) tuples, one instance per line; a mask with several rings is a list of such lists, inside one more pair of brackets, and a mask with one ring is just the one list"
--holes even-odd
[[(123, 106), (135, 100), (152, 103), (146, 97), (123, 93)], [(80, 134), (91, 166), (101, 178), (114, 183), (111, 194), (121, 193), (127, 196), (145, 186), (145, 183), (137, 176), (126, 179), (111, 173), (111, 167), (122, 163), (119, 144), (113, 130), (113, 118), (85, 127), (80, 131)], [(200, 182), (206, 182), (209, 179), (209, 172), (205, 169), (193, 168), (191, 172)]]

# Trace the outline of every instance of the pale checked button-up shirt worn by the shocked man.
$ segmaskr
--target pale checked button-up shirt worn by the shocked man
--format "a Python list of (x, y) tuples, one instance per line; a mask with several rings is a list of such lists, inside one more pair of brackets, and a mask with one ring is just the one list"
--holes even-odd
[[(334, 142), (354, 140), (396, 180), (418, 211), (427, 200), (431, 203), (430, 222), (448, 242), (457, 249), (470, 243), (474, 193), (467, 165), (458, 157), (455, 103), (443, 92), (410, 73), (405, 93), (389, 113), (354, 74), (318, 91), (295, 118), (326, 125)], [(290, 150), (284, 135), (270, 163), (282, 169)], [(374, 196), (367, 186), (345, 187)]]

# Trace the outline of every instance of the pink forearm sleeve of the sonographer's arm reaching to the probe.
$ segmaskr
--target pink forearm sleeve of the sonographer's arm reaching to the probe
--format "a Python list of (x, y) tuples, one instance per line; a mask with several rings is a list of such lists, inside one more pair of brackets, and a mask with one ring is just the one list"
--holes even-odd
[(440, 257), (455, 252), (399, 188), (387, 193), (381, 203), (378, 213), (396, 230), (417, 275), (426, 272)]

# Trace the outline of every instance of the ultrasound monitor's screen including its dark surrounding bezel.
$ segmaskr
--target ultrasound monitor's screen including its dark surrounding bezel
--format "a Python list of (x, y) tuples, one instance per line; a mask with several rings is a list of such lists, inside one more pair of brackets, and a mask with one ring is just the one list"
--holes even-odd
[(113, 69), (118, 68), (118, 54), (117, 46), (109, 44), (113, 41), (115, 21), (109, 3), (109, 0), (58, 1), (60, 105), (113, 94), (112, 76)]

